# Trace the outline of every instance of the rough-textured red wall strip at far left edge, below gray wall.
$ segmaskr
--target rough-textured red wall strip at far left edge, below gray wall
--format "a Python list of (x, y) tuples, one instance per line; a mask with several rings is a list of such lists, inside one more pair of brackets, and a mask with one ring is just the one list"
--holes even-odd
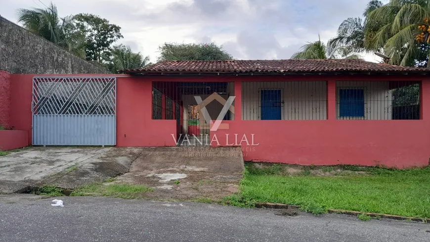
[(10, 74), (0, 70), (0, 126), (9, 129), (10, 125)]

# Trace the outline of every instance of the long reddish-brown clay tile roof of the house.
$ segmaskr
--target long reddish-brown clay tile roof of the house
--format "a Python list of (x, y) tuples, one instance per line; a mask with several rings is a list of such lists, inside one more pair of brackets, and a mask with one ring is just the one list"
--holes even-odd
[(167, 60), (124, 73), (288, 73), (288, 72), (429, 72), (427, 68), (404, 67), (360, 59), (285, 60)]

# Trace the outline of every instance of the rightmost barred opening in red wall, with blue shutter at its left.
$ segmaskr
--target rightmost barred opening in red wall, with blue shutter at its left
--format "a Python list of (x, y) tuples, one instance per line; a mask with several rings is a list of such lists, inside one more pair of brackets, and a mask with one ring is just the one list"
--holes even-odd
[(420, 119), (420, 82), (338, 81), (336, 118)]

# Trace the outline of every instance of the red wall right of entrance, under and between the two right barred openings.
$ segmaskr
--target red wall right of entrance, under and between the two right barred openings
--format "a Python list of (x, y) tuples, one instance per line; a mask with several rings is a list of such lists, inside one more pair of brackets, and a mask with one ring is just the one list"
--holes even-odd
[[(211, 132), (211, 140), (216, 135), (221, 146), (234, 146), (237, 134), (246, 161), (398, 168), (429, 164), (430, 80), (422, 84), (421, 120), (336, 120), (335, 81), (328, 82), (327, 93), (328, 120), (242, 120), (235, 101), (235, 120), (223, 121), (229, 129)], [(249, 145), (241, 143), (244, 135)], [(218, 146), (215, 141), (212, 145)]]

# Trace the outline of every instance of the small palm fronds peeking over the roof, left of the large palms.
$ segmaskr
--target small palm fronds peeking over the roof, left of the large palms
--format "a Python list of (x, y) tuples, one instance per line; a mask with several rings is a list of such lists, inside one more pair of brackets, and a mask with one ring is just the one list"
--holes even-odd
[(356, 54), (352, 48), (326, 46), (318, 35), (318, 41), (307, 42), (300, 48), (300, 51), (291, 56), (292, 59), (359, 59), (360, 55)]

